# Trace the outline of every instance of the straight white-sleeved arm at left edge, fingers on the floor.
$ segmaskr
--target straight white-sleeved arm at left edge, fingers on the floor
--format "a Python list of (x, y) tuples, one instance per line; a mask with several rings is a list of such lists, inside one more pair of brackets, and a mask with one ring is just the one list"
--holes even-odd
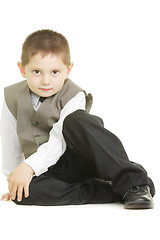
[[(9, 111), (5, 101), (2, 106), (2, 114), (0, 121), (0, 132), (1, 132), (1, 143), (2, 143), (2, 171), (8, 176), (9, 190), (11, 193), (11, 175), (13, 169), (17, 169), (17, 166), (24, 160), (23, 153), (21, 151), (18, 136), (16, 132), (16, 119)], [(29, 168), (26, 166), (22, 166)], [(30, 171), (30, 172), (29, 172)], [(28, 172), (31, 173), (31, 169), (28, 169)], [(33, 176), (33, 174), (32, 174)], [(32, 177), (31, 176), (31, 177)], [(10, 180), (9, 180), (10, 179)], [(9, 200), (10, 194), (4, 194), (1, 200)]]

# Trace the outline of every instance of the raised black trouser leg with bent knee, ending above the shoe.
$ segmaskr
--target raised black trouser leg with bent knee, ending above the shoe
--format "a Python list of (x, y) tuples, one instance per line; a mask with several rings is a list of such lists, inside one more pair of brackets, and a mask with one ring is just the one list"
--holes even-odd
[(99, 177), (112, 181), (118, 194), (123, 196), (132, 186), (149, 184), (145, 169), (129, 161), (120, 140), (104, 128), (99, 117), (78, 110), (64, 120), (63, 135), (70, 149), (92, 159)]

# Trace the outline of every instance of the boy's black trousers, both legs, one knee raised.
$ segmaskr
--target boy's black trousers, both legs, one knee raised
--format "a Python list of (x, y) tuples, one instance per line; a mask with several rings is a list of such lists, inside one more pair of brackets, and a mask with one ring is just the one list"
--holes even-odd
[(34, 177), (22, 205), (112, 203), (137, 185), (155, 188), (146, 170), (129, 161), (121, 141), (97, 116), (78, 110), (66, 117), (63, 135), (67, 149), (56, 165)]

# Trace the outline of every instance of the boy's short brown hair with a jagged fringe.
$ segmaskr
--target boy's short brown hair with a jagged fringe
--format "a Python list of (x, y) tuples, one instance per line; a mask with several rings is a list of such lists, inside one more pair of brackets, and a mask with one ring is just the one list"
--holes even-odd
[(23, 67), (29, 63), (32, 56), (42, 53), (42, 57), (48, 54), (61, 55), (65, 65), (70, 64), (70, 49), (67, 39), (53, 30), (43, 29), (31, 33), (22, 46), (21, 61)]

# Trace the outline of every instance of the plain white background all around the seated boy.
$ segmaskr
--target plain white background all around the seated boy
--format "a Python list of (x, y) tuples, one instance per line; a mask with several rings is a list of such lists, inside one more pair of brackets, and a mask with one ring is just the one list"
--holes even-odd
[[(66, 36), (70, 78), (94, 97), (91, 113), (123, 142), (131, 161), (154, 180), (154, 210), (123, 206), (24, 207), (0, 202), (1, 231), (12, 239), (150, 239), (159, 221), (160, 1), (3, 1), (0, 7), (0, 108), (3, 88), (21, 81), (17, 61), (26, 36), (53, 29)], [(7, 182), (0, 174), (0, 194)], [(157, 239), (157, 238), (155, 238)]]

